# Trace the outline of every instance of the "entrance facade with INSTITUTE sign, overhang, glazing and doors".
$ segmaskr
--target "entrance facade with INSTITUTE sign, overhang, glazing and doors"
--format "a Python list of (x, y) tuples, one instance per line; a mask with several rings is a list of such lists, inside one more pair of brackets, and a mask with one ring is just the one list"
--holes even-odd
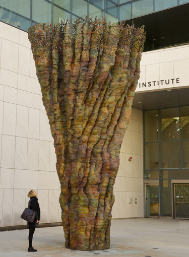
[(188, 44), (143, 53), (134, 106), (145, 109), (146, 217), (189, 218), (188, 65)]

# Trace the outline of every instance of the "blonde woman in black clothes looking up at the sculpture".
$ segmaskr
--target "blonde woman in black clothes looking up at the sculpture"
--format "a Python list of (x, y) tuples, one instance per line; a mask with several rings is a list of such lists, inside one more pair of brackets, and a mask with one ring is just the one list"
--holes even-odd
[(34, 222), (33, 223), (28, 222), (28, 225), (27, 225), (27, 227), (29, 228), (29, 236), (28, 236), (29, 248), (28, 248), (28, 251), (37, 251), (32, 247), (33, 234), (35, 232), (35, 228), (38, 227), (38, 223), (40, 221), (40, 208), (39, 208), (39, 203), (38, 203), (38, 199), (37, 199), (37, 192), (34, 191), (34, 190), (29, 191), (28, 197), (30, 197), (30, 200), (31, 200), (29, 209), (33, 210), (36, 213)]

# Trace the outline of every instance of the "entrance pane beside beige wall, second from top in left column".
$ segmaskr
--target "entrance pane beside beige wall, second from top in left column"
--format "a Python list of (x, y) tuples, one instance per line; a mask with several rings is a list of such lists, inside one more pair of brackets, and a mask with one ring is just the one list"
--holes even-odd
[(158, 143), (145, 144), (145, 170), (158, 168)]

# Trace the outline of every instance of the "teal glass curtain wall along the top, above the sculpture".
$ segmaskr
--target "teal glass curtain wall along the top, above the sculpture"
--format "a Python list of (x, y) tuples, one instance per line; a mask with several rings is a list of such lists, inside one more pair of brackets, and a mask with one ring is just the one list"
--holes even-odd
[(35, 22), (74, 22), (86, 15), (117, 23), (186, 3), (189, 0), (0, 0), (0, 21), (25, 31)]

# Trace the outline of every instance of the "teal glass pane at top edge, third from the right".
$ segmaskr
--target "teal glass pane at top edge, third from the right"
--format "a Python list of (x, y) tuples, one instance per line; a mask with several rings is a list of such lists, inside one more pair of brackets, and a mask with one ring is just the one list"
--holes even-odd
[(132, 17), (154, 12), (154, 0), (140, 0), (132, 3)]

